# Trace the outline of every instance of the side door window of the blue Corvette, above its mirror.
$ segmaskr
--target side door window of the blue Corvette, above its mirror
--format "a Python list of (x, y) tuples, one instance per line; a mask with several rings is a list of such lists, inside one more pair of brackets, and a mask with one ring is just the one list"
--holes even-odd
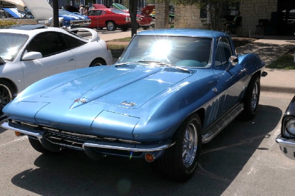
[(215, 56), (215, 65), (221, 66), (228, 64), (229, 58), (233, 55), (230, 41), (227, 37), (221, 37)]

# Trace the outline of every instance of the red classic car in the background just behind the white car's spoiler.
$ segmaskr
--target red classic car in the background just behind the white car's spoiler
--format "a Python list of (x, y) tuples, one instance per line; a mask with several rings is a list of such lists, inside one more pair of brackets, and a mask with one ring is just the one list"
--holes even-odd
[[(88, 17), (91, 24), (88, 28), (107, 28), (108, 30), (116, 30), (121, 28), (123, 31), (130, 28), (131, 19), (129, 13), (113, 8), (99, 8), (89, 10)], [(140, 20), (140, 17), (137, 18)]]

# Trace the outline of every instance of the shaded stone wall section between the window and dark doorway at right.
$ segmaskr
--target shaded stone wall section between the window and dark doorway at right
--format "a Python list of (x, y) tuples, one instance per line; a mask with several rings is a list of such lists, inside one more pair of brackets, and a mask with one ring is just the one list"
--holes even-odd
[(242, 16), (242, 35), (254, 35), (259, 19), (268, 19), (277, 11), (278, 0), (242, 0), (239, 10)]

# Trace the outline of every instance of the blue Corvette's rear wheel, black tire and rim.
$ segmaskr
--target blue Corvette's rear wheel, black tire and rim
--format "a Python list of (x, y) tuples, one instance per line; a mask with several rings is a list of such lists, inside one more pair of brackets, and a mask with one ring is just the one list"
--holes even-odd
[(244, 110), (241, 113), (244, 120), (249, 120), (254, 118), (257, 112), (257, 106), (259, 104), (260, 97), (260, 78), (254, 75), (246, 89), (244, 96)]

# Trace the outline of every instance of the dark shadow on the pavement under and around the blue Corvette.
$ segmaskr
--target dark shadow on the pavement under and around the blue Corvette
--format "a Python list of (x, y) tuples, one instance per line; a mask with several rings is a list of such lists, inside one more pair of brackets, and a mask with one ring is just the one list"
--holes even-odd
[(197, 172), (185, 183), (161, 177), (143, 160), (112, 156), (91, 160), (74, 150), (40, 155), (34, 161), (37, 168), (28, 167), (11, 182), (42, 196), (220, 196), (256, 150), (268, 150), (262, 141), (281, 116), (279, 108), (260, 105), (254, 119), (232, 122), (203, 145)]

